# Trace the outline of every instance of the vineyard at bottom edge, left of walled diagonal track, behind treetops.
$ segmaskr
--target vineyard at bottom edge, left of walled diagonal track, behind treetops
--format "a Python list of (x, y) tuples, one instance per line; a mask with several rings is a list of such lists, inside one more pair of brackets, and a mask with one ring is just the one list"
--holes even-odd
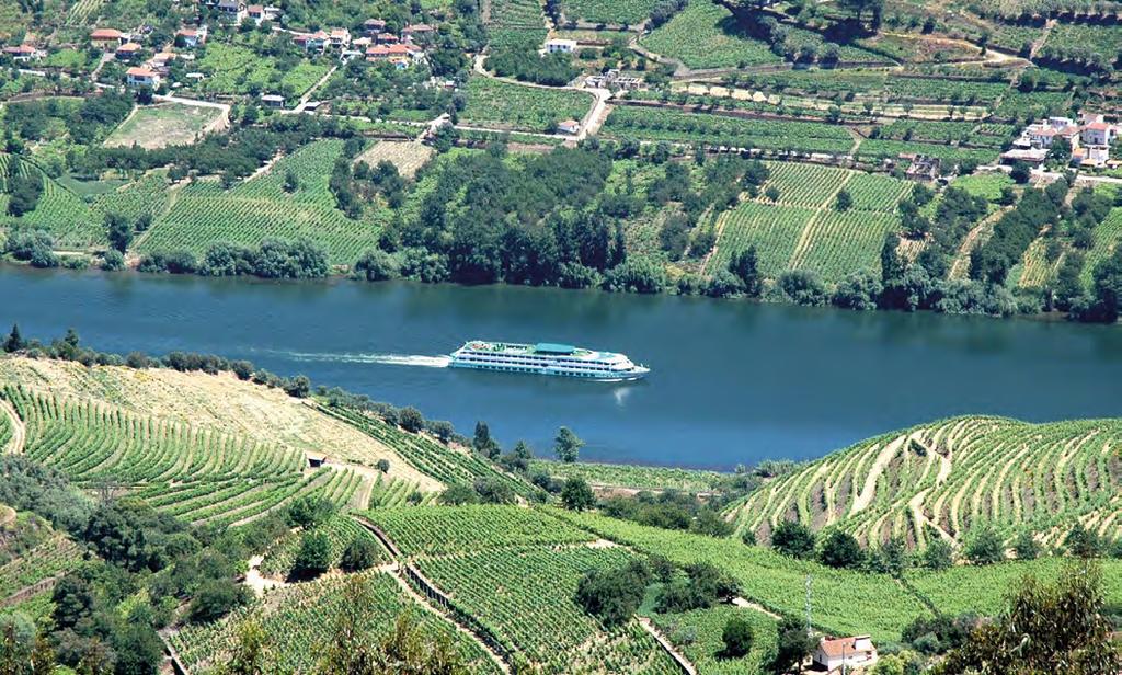
[[(366, 630), (385, 636), (402, 612), (412, 610), (426, 629), (447, 638), (463, 654), (472, 673), (499, 673), (477, 642), (445, 619), (420, 608), (390, 575), (369, 573), (362, 579), (371, 598), (370, 603), (362, 605)], [(283, 637), (268, 640), (267, 645), (268, 658), (279, 672), (312, 672), (320, 650), (332, 639), (334, 620), (346, 599), (346, 583), (347, 577), (330, 576), (284, 586), (269, 594), (269, 602), (238, 610), (213, 623), (188, 626), (172, 634), (169, 640), (192, 672), (208, 672), (228, 658), (239, 623), (254, 619), (265, 635)]]

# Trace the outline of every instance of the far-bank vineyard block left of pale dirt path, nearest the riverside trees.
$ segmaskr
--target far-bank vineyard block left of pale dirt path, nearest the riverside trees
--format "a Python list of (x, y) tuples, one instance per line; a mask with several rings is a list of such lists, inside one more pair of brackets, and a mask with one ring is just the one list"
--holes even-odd
[(811, 209), (742, 202), (721, 214), (717, 225), (720, 231), (717, 251), (707, 271), (724, 269), (734, 255), (755, 246), (760, 271), (767, 277), (779, 276), (787, 269), (799, 244), (799, 235), (812, 218), (815, 211)]

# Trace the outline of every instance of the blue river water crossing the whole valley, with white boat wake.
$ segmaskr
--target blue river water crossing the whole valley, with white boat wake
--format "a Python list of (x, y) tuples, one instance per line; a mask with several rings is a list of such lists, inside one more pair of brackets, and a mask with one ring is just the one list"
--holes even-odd
[[(0, 330), (74, 326), (103, 351), (243, 358), (470, 435), (585, 459), (728, 469), (808, 459), (957, 414), (1122, 415), (1122, 329), (677, 296), (406, 283), (266, 283), (0, 266)], [(640, 382), (441, 368), (468, 339), (622, 351)]]

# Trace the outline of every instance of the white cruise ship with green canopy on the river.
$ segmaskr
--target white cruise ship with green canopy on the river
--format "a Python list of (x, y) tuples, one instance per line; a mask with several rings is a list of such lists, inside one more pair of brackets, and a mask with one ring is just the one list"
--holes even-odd
[(651, 372), (624, 354), (568, 344), (515, 344), (472, 340), (451, 354), (453, 368), (558, 375), (594, 380), (637, 380)]

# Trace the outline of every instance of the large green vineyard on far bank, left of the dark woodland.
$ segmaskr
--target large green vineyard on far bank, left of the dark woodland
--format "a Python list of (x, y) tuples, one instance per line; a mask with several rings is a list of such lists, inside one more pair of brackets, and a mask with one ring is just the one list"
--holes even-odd
[[(186, 249), (201, 255), (214, 241), (256, 247), (269, 238), (306, 237), (327, 249), (331, 262), (352, 263), (377, 244), (378, 225), (351, 220), (335, 209), (328, 181), (341, 152), (341, 140), (320, 140), (230, 189), (212, 181), (191, 183), (181, 188), (139, 250)], [(300, 184), (292, 194), (283, 187), (289, 170)]]

